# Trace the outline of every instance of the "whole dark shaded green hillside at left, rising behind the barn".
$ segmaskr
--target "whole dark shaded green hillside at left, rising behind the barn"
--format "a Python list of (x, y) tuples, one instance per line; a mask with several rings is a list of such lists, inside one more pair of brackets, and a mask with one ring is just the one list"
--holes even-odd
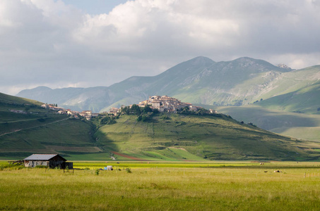
[(93, 140), (93, 124), (46, 110), (42, 104), (0, 94), (0, 159), (22, 159), (32, 153), (63, 154), (66, 150), (100, 151)]

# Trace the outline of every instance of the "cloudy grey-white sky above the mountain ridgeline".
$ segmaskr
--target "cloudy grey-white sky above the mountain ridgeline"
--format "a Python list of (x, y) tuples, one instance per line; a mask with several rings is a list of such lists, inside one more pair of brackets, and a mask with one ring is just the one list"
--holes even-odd
[(110, 86), (185, 60), (320, 64), (320, 0), (1, 0), (0, 92)]

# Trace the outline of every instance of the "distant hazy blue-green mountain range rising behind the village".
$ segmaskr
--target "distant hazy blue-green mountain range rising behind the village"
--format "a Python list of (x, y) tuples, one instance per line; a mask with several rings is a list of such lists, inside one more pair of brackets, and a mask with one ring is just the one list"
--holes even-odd
[[(200, 56), (175, 65), (160, 75), (130, 77), (110, 87), (37, 87), (20, 91), (17, 96), (95, 112), (138, 103), (152, 95), (167, 95), (189, 103), (216, 106), (241, 106), (263, 98), (266, 106), (273, 106), (265, 100), (307, 90), (319, 82), (319, 70), (320, 66), (292, 70), (285, 65), (277, 67), (264, 60), (247, 57), (217, 63)], [(314, 91), (319, 94), (318, 89)], [(295, 96), (299, 101), (300, 96)]]

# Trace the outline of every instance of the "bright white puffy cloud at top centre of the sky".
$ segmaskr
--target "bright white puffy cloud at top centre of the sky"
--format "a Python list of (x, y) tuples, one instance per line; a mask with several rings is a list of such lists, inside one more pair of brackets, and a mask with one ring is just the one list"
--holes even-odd
[[(204, 2), (209, 4), (211, 1)], [(86, 15), (73, 34), (80, 43), (106, 51), (155, 51), (157, 43), (172, 46), (230, 46), (239, 35), (237, 20), (210, 17), (206, 6), (192, 12), (184, 1), (129, 1), (109, 14)], [(201, 11), (201, 9), (203, 11)], [(219, 11), (219, 10), (217, 10)], [(205, 13), (205, 14), (202, 14)], [(200, 15), (199, 15), (200, 14)]]

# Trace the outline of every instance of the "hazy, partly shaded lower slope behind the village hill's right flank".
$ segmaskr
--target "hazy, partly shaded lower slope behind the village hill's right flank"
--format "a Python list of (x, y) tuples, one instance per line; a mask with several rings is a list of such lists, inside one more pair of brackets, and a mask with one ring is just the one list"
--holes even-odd
[(271, 132), (320, 142), (320, 115), (267, 109), (259, 105), (260, 103), (256, 103), (249, 106), (226, 106), (216, 109), (231, 115), (236, 120), (252, 122)]

